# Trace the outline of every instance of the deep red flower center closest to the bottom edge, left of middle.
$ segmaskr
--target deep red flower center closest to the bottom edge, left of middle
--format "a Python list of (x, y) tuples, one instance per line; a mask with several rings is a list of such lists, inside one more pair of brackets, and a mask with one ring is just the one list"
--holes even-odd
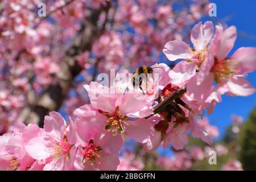
[(99, 146), (95, 146), (93, 143), (93, 139), (90, 139), (88, 146), (84, 147), (84, 158), (82, 159), (82, 163), (85, 163), (87, 160), (90, 160), (93, 166), (94, 164), (100, 164), (100, 162), (96, 162), (97, 158), (100, 158), (98, 154), (102, 151), (102, 148)]

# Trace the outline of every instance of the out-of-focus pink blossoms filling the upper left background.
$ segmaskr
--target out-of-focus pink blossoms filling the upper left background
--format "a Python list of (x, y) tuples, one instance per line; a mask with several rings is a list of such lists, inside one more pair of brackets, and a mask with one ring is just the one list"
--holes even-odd
[[(34, 105), (50, 86), (68, 79), (62, 63), (67, 61), (64, 57), (84, 27), (92, 28), (97, 36), (92, 35), (94, 38), (86, 46), (78, 47), (73, 58), (82, 69), (79, 74), (88, 83), (94, 78), (91, 68), (106, 72), (109, 68), (154, 63), (166, 39), (185, 37), (188, 32), (184, 27), (204, 15), (208, 2), (184, 3), (182, 11), (175, 11), (173, 4), (158, 0), (48, 0), (44, 1), (46, 17), (39, 17), (39, 3), (0, 2), (0, 134), (9, 131), (14, 123), (30, 118), (27, 105)], [(92, 23), (94, 11), (100, 15)], [(88, 101), (82, 98), (81, 85), (72, 82), (68, 89), (77, 92), (79, 100)], [(8, 92), (8, 99), (3, 92)], [(79, 106), (72, 96), (64, 99), (63, 107)], [(10, 100), (14, 102), (11, 107)]]

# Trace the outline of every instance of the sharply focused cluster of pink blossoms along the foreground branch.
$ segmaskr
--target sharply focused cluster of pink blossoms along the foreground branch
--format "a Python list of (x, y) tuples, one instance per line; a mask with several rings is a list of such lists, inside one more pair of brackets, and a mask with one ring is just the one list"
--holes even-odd
[[(1, 169), (115, 170), (127, 137), (148, 152), (160, 144), (182, 150), (189, 142), (188, 131), (212, 144), (218, 131), (202, 119), (209, 105), (212, 112), (221, 94), (248, 96), (255, 91), (244, 74), (255, 70), (256, 48), (240, 48), (227, 57), (235, 40), (235, 27), (224, 30), (218, 25), (213, 35), (212, 22), (200, 22), (191, 32), (194, 48), (174, 40), (163, 49), (171, 61), (182, 61), (173, 69), (166, 64), (151, 66), (158, 84), (148, 77), (141, 89), (134, 88), (130, 81), (120, 80), (121, 75), (129, 75), (123, 70), (113, 80), (114, 92), (98, 82), (84, 85), (90, 104), (75, 109), (68, 121), (53, 111), (44, 118), (43, 129), (20, 124), (1, 136)], [(188, 168), (191, 156), (184, 155), (176, 158), (188, 159), (184, 163)]]

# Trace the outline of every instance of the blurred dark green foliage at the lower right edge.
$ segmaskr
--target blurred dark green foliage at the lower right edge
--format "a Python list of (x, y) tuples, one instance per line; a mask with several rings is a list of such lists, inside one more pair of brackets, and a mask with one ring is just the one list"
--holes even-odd
[(256, 106), (242, 127), (240, 160), (245, 170), (256, 170)]

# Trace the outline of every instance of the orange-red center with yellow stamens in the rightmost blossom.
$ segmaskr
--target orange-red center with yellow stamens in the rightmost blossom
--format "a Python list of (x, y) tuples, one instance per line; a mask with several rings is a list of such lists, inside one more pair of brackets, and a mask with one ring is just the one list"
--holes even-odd
[(215, 64), (211, 71), (214, 73), (214, 80), (217, 84), (221, 81), (230, 80), (235, 72), (235, 67), (236, 61), (231, 60), (229, 57), (221, 61), (215, 58)]

